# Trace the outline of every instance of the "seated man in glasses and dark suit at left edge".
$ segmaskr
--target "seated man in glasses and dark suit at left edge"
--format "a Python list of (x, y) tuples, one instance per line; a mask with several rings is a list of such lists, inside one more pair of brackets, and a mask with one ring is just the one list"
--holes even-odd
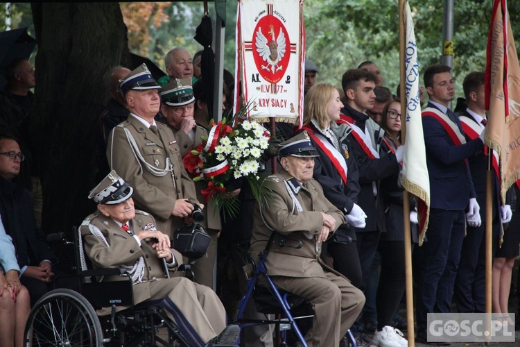
[(17, 179), (24, 159), (17, 139), (0, 135), (0, 215), (15, 245), (21, 284), (27, 287), (34, 305), (49, 290), (55, 256), (32, 217), (31, 194)]

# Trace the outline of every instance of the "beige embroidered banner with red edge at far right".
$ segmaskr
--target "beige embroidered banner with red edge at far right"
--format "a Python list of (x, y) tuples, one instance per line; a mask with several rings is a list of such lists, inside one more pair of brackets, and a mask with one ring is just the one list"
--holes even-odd
[(501, 198), (520, 178), (520, 67), (507, 1), (495, 0), (487, 38), (485, 142), (500, 154)]

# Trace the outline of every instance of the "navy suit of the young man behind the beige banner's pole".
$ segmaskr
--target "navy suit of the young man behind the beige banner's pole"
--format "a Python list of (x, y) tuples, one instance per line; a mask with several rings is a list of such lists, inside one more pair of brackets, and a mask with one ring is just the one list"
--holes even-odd
[[(478, 124), (478, 121), (465, 110), (464, 116)], [(467, 141), (471, 140), (466, 136)], [(481, 153), (468, 159), (476, 198), (480, 205), (482, 224), (478, 227), (467, 226), (466, 237), (462, 242), (460, 263), (453, 290), (458, 312), (485, 312), (485, 216), (486, 216), (486, 175), (487, 155)], [(493, 171), (494, 172), (494, 171)], [(493, 175), (493, 242), (499, 235), (501, 218), (499, 215), (499, 185)], [(493, 248), (494, 249), (494, 248)]]

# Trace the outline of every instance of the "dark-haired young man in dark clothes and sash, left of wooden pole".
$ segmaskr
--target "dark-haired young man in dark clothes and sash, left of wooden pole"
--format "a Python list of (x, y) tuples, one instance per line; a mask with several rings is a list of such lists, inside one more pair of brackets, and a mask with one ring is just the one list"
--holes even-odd
[[(341, 84), (346, 102), (337, 123), (341, 132), (348, 133), (347, 138), (351, 144), (349, 153), (354, 155), (359, 170), (361, 191), (358, 194), (358, 204), (367, 214), (366, 226), (356, 228), (356, 246), (363, 276), (361, 289), (365, 291), (379, 243), (379, 233), (385, 232), (379, 180), (399, 172), (404, 148), (399, 146), (395, 154), (379, 154), (384, 131), (366, 113), (374, 106), (376, 76), (364, 69), (350, 69), (343, 74)], [(361, 325), (356, 323), (352, 330), (356, 335), (361, 330)]]

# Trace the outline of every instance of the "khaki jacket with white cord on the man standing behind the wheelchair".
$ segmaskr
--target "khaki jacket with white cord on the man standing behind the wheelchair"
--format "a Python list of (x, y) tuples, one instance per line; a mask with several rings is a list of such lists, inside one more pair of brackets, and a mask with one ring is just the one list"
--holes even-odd
[[(110, 133), (107, 159), (110, 168), (134, 188), (132, 198), (136, 208), (150, 212), (157, 221), (157, 229), (173, 237), (173, 232), (184, 225), (182, 218), (171, 214), (175, 201), (180, 198), (198, 201), (173, 133), (159, 122), (157, 130), (160, 137), (130, 115)], [(168, 171), (167, 159), (173, 171)], [(150, 172), (154, 170), (159, 173)]]

